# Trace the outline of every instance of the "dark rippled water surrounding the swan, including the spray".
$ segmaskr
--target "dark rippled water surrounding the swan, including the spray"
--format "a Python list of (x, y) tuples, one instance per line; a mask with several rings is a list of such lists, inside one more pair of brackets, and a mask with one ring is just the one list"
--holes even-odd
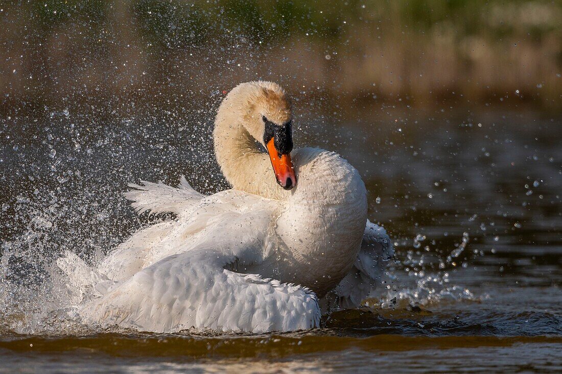
[(211, 121), (181, 110), (0, 120), (0, 371), (562, 371), (559, 116), (301, 115), (296, 145), (336, 150), (359, 169), (369, 217), (397, 249), (375, 297), (322, 329), (157, 335), (53, 312), (67, 305), (51, 266), (59, 253), (94, 262), (155, 219), (135, 217), (127, 183), (186, 174), (198, 190), (225, 188)]

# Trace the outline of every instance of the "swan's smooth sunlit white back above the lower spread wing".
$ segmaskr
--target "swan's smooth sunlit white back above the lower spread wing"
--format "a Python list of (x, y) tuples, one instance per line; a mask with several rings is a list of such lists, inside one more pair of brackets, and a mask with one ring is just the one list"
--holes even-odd
[[(224, 190), (180, 202), (181, 191), (175, 194), (173, 190), (176, 189), (157, 184), (149, 186), (149, 190), (152, 188), (171, 191), (167, 198), (172, 202), (163, 198), (153, 201), (160, 207), (174, 206), (178, 219), (145, 227), (120, 244), (97, 268), (109, 279), (128, 279), (161, 259), (202, 247), (229, 248), (234, 253), (235, 248), (252, 243), (263, 251), (267, 249), (266, 241), (274, 234), (273, 218), (279, 204), (273, 200), (243, 191)], [(175, 202), (174, 198), (177, 198)], [(262, 258), (260, 252), (255, 261)]]

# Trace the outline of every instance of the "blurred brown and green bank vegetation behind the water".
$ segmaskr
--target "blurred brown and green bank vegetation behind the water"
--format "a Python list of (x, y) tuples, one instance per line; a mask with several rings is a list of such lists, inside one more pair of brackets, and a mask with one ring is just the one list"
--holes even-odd
[(181, 103), (258, 78), (339, 101), (561, 107), (560, 1), (0, 1), (0, 22), (4, 108)]

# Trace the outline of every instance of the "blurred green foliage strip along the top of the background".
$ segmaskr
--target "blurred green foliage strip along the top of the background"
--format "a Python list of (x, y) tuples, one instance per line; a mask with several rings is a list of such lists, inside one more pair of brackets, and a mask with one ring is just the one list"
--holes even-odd
[[(7, 2), (0, 2), (7, 3)], [(51, 30), (83, 20), (92, 28), (107, 21), (118, 7), (129, 7), (139, 33), (162, 47), (201, 44), (206, 38), (235, 33), (253, 43), (276, 43), (298, 35), (328, 43), (376, 26), (420, 34), (446, 26), (456, 38), (498, 38), (560, 30), (562, 2), (535, 0), (44, 0), (29, 1), (30, 26)], [(541, 21), (542, 12), (551, 17)], [(523, 22), (527, 13), (532, 22)], [(544, 17), (542, 17), (544, 18)]]

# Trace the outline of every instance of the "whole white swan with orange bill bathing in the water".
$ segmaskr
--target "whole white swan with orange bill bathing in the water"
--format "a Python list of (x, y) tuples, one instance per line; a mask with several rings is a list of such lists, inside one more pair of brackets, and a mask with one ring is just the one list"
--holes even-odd
[[(278, 84), (243, 83), (215, 118), (214, 150), (232, 189), (212, 195), (132, 184), (139, 212), (172, 212), (96, 268), (57, 260), (80, 290), (76, 312), (101, 326), (170, 332), (319, 327), (320, 305), (355, 307), (393, 248), (367, 219), (359, 172), (336, 153), (293, 150), (291, 101)], [(89, 297), (85, 297), (89, 293)]]

